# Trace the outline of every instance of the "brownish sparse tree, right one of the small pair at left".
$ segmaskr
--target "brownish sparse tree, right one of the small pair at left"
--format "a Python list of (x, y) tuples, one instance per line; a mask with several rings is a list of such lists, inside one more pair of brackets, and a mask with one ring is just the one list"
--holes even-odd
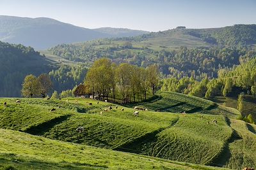
[(40, 83), (40, 94), (44, 98), (45, 95), (52, 89), (52, 81), (48, 74), (40, 74), (38, 76), (38, 81)]

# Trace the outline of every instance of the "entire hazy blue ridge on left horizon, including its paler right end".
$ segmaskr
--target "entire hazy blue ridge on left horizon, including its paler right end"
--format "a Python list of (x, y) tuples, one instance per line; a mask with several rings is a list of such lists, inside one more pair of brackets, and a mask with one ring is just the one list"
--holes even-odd
[[(98, 38), (137, 36), (143, 31), (129, 29), (86, 29), (52, 18), (23, 18), (0, 16), (0, 41), (33, 46), (36, 50), (47, 49), (61, 43), (75, 43)], [(117, 33), (116, 33), (117, 32)], [(120, 32), (120, 33), (118, 33)], [(140, 33), (141, 32), (141, 33)]]

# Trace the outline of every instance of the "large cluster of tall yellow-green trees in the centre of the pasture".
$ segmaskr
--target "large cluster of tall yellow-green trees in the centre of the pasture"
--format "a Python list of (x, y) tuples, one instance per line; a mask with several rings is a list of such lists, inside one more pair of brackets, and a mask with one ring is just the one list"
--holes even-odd
[(96, 60), (86, 74), (84, 85), (88, 94), (99, 97), (121, 96), (123, 103), (147, 99), (147, 94), (154, 95), (159, 81), (156, 65), (147, 68), (127, 63), (116, 65), (111, 60)]

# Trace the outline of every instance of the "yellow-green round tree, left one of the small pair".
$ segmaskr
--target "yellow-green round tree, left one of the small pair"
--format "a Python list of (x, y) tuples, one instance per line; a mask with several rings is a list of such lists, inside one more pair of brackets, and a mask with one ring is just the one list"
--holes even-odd
[(40, 95), (40, 83), (36, 76), (30, 74), (24, 78), (21, 94), (24, 97), (36, 97)]

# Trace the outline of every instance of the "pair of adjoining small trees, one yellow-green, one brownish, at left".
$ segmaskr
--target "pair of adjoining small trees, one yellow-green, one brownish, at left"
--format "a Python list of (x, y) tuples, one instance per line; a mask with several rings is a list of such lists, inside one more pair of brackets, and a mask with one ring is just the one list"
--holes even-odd
[(48, 74), (40, 74), (36, 77), (29, 74), (22, 83), (21, 94), (23, 97), (46, 97), (52, 89), (52, 81)]

